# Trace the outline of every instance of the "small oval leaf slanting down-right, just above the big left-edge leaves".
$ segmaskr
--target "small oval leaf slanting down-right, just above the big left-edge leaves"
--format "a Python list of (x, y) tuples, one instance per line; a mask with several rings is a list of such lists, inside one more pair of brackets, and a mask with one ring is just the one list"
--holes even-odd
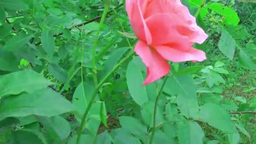
[(67, 81), (67, 70), (61, 68), (58, 64), (48, 65), (48, 70), (57, 80), (61, 82)]

